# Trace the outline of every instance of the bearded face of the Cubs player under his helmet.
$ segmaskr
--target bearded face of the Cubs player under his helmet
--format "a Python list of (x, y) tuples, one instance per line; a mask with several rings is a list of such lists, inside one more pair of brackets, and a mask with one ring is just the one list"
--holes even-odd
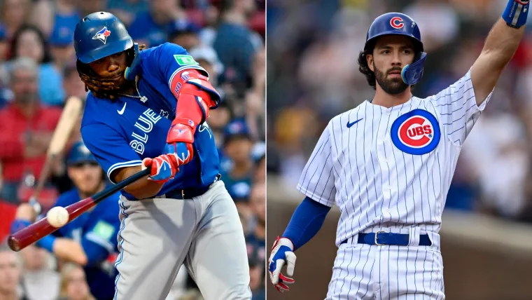
[(372, 55), (367, 55), (367, 65), (384, 92), (396, 95), (407, 89), (401, 71), (414, 62), (414, 45), (406, 36), (383, 36), (377, 40)]

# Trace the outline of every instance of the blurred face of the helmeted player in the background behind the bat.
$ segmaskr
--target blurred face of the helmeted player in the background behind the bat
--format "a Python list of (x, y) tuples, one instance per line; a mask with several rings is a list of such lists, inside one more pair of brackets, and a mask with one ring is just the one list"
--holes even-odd
[(102, 183), (102, 168), (98, 163), (80, 163), (69, 166), (69, 177), (81, 193), (92, 194)]

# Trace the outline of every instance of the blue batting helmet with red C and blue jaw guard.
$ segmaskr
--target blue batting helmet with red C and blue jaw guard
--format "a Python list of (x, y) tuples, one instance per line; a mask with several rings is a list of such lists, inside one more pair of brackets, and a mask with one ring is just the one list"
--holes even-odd
[(421, 32), (416, 22), (404, 13), (385, 13), (379, 15), (367, 30), (366, 42), (364, 50), (372, 50), (375, 45), (375, 40), (379, 36), (384, 35), (402, 35), (408, 36), (414, 42), (416, 51), (421, 52), (419, 59), (412, 64), (407, 64), (402, 68), (402, 81), (407, 85), (412, 86), (416, 84), (421, 76), (423, 76), (423, 62), (426, 59), (426, 53), (423, 52), (423, 42), (421, 42)]

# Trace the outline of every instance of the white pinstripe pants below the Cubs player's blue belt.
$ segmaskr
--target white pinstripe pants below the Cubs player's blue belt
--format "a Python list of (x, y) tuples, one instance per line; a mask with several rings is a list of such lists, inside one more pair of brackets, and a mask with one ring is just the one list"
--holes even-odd
[(342, 244), (327, 300), (443, 300), (442, 255), (435, 247)]

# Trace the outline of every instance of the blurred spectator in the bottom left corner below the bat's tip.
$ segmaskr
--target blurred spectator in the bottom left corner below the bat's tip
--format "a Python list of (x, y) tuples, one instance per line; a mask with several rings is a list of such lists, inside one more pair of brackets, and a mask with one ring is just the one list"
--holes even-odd
[(0, 299), (29, 300), (19, 287), (22, 266), (17, 254), (6, 244), (0, 244)]

